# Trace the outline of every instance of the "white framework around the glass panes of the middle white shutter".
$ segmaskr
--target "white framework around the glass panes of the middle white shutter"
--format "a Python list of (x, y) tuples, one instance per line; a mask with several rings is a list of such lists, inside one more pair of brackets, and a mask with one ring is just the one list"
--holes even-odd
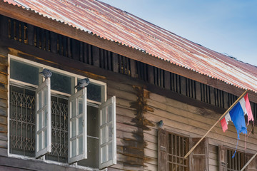
[[(74, 95), (71, 95), (71, 97), (69, 97), (68, 99), (68, 163), (72, 164), (74, 162), (78, 162), (79, 160), (84, 160), (87, 158), (87, 96), (86, 96), (86, 88), (82, 88), (81, 90), (79, 90), (77, 93), (75, 93)], [(82, 106), (82, 113), (79, 113), (79, 98), (83, 99), (83, 106)], [(73, 111), (73, 105), (72, 102), (75, 101), (75, 116), (72, 117), (72, 111)], [(82, 115), (82, 116), (81, 116)], [(79, 119), (82, 117), (82, 135), (78, 135), (79, 133)], [(72, 137), (72, 133), (73, 133), (73, 127), (71, 122), (74, 121), (76, 122), (76, 130), (75, 133), (76, 135), (74, 137)], [(79, 137), (82, 136), (82, 141), (83, 141), (83, 147), (82, 147), (82, 153), (79, 154)], [(74, 157), (71, 157), (72, 154), (72, 145), (71, 142), (75, 141), (76, 142), (76, 155)]]

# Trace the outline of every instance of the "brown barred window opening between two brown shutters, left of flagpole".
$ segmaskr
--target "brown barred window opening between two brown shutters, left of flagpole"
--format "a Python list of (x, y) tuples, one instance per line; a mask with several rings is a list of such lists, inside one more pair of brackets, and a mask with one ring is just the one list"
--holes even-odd
[(168, 170), (188, 171), (189, 138), (168, 133)]

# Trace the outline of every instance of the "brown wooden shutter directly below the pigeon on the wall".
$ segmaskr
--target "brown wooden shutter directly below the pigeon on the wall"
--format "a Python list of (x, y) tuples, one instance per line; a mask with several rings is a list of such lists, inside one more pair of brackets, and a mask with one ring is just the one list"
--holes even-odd
[(158, 129), (158, 170), (167, 170), (168, 133)]

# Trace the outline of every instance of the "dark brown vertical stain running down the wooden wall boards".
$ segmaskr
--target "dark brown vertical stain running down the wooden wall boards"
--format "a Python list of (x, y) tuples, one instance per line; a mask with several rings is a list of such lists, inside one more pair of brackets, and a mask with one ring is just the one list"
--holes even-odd
[(140, 86), (133, 86), (136, 92), (136, 100), (130, 103), (130, 107), (135, 110), (135, 118), (131, 122), (136, 123), (137, 130), (132, 132), (133, 138), (124, 138), (122, 140), (123, 146), (120, 149), (122, 155), (124, 155), (124, 164), (130, 165), (136, 168), (143, 167), (144, 162), (149, 159), (144, 156), (144, 148), (147, 142), (143, 140), (143, 130), (149, 130), (148, 126), (154, 126), (150, 120), (144, 117), (144, 114), (148, 111), (153, 112), (153, 108), (147, 105), (147, 98), (150, 96), (150, 92)]

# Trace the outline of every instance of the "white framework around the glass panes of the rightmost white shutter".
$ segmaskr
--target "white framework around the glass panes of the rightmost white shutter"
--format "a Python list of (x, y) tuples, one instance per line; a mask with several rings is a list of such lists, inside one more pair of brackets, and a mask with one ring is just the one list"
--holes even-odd
[[(108, 109), (108, 107), (111, 106), (111, 118), (112, 120), (107, 122), (104, 121), (105, 123), (102, 124), (103, 121), (103, 115), (102, 115), (102, 110), (103, 109)], [(106, 110), (108, 112), (108, 110)], [(108, 115), (108, 113), (106, 113)], [(111, 125), (111, 140), (109, 140), (109, 130), (106, 129), (106, 138), (108, 138), (107, 142), (103, 142), (103, 135), (101, 135), (101, 130), (103, 128), (108, 128), (108, 126)], [(102, 162), (103, 154), (102, 154), (102, 148), (106, 147), (106, 157), (108, 158), (109, 153), (108, 153), (108, 145), (111, 144), (112, 146), (112, 156), (111, 159)], [(111, 165), (117, 164), (117, 152), (116, 152), (116, 96), (111, 97), (109, 100), (107, 100), (105, 103), (102, 103), (99, 106), (99, 168), (103, 169), (104, 167), (109, 167)]]

